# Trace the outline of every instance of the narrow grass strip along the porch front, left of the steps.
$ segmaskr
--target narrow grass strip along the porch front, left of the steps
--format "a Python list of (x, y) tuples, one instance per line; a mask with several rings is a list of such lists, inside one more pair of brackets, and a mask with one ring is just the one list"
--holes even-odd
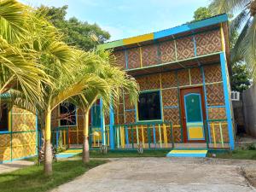
[[(169, 150), (144, 150), (143, 154), (137, 151), (108, 151), (108, 154), (101, 154), (98, 150), (90, 151), (91, 158), (120, 158), (120, 157), (166, 157)], [(82, 154), (79, 154), (81, 156)]]

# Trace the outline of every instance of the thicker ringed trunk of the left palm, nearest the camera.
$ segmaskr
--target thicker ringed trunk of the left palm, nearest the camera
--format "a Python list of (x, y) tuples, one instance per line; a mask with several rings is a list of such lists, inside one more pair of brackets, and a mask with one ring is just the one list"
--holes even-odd
[(50, 118), (51, 111), (48, 109), (45, 117), (45, 143), (44, 143), (44, 174), (52, 175), (52, 150), (50, 144)]

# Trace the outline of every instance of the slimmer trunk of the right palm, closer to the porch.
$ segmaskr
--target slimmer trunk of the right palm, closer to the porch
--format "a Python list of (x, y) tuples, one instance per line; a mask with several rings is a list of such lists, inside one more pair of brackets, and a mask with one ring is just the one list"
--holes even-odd
[(83, 139), (83, 162), (90, 161), (89, 151), (89, 109), (84, 110), (84, 139)]

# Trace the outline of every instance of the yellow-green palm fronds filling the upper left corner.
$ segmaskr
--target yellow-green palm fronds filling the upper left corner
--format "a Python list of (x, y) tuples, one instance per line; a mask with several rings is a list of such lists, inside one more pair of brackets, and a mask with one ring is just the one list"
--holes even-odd
[[(39, 102), (41, 84), (49, 83), (37, 51), (28, 47), (34, 23), (31, 10), (15, 0), (0, 1), (0, 94), (21, 90), (26, 98)], [(31, 30), (29, 30), (31, 29)]]

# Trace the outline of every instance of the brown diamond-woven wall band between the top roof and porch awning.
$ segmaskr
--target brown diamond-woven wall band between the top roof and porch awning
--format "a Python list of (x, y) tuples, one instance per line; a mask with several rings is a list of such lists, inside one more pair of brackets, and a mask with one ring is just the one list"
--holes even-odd
[[(175, 40), (167, 38), (166, 41), (157, 44), (143, 45), (141, 48), (126, 49), (126, 52), (128, 57), (128, 69), (132, 69), (141, 67), (141, 57), (143, 61), (142, 67), (148, 67), (161, 63), (181, 61), (195, 56), (218, 53), (221, 50), (221, 36), (219, 29), (217, 29), (209, 32), (201, 32), (194, 36), (190, 35), (177, 38)], [(117, 63), (125, 68), (125, 49), (115, 51), (114, 55), (118, 58)]]

